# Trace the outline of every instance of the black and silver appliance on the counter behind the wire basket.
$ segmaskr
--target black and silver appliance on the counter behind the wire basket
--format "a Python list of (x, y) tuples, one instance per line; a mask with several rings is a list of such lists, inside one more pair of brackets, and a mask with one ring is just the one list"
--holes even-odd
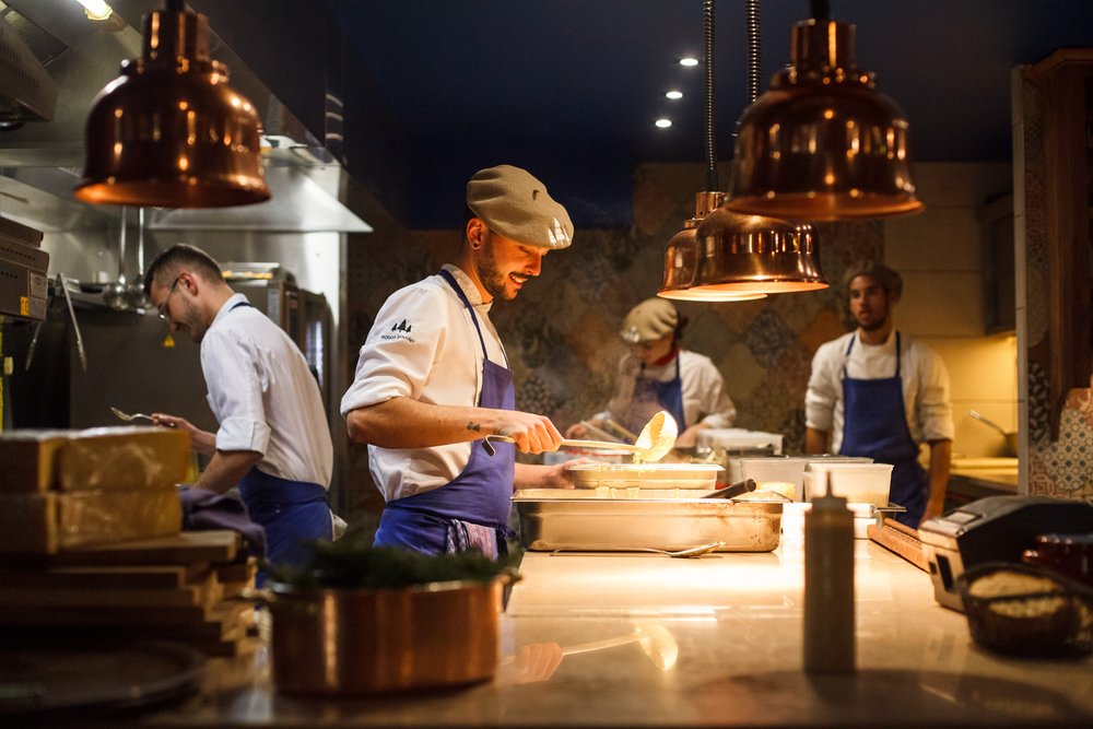
[(1093, 533), (1093, 505), (1048, 496), (988, 496), (918, 528), (933, 596), (964, 611), (956, 579), (983, 562), (1021, 562), (1045, 533)]

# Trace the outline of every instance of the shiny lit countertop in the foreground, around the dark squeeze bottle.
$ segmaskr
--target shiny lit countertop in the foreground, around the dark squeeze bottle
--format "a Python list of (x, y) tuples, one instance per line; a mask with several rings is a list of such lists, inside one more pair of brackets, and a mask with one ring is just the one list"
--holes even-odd
[(726, 726), (1093, 722), (1093, 658), (972, 644), (926, 573), (856, 546), (853, 675), (801, 672), (802, 553), (529, 553), (492, 682), (356, 702), (277, 694), (265, 648), (215, 661), (201, 695), (145, 726)]

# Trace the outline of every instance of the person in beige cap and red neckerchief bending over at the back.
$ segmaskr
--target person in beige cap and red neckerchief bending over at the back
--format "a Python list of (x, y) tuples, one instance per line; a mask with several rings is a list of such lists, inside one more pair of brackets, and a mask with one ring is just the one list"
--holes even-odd
[[(680, 435), (675, 445), (695, 445), (698, 431), (730, 427), (737, 409), (725, 390), (721, 373), (709, 357), (684, 350), (680, 337), (686, 317), (663, 298), (647, 298), (630, 310), (619, 336), (631, 345), (619, 362), (614, 396), (607, 410), (589, 419), (598, 427), (609, 422), (639, 433), (660, 410), (675, 419)], [(566, 437), (579, 438), (587, 428), (575, 424)]]

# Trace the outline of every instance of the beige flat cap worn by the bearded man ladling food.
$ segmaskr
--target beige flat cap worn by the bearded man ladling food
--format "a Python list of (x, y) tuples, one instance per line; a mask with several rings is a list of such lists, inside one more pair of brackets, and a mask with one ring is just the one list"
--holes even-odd
[(467, 183), (467, 207), (506, 238), (537, 248), (573, 243), (569, 213), (526, 169), (497, 165), (474, 173)]

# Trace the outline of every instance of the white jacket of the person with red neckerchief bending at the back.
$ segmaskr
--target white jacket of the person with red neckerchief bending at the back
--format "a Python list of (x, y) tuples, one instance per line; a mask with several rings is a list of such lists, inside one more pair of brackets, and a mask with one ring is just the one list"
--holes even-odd
[[(737, 419), (737, 408), (725, 389), (725, 379), (704, 354), (680, 350), (680, 381), (683, 389), (683, 416), (686, 427), (700, 422), (708, 427), (731, 427)], [(626, 354), (619, 361), (615, 390), (608, 409), (596, 415), (600, 421), (611, 419), (625, 423), (634, 399), (634, 385), (638, 376), (656, 383), (667, 383), (675, 378), (675, 360), (666, 365), (646, 366), (642, 373), (642, 361), (634, 354)]]

